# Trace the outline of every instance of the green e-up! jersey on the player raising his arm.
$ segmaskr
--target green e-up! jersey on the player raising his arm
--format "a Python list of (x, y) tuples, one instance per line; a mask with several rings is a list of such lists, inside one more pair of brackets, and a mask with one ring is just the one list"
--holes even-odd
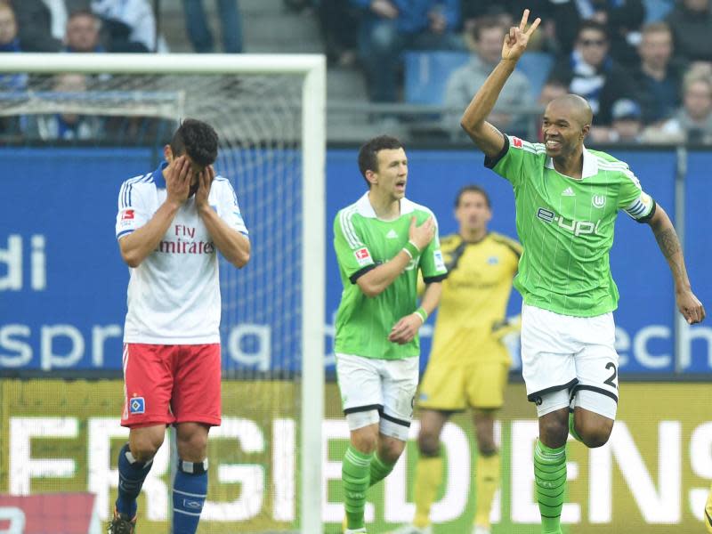
[(558, 173), (543, 144), (505, 136), (485, 166), (514, 188), (524, 253), (514, 279), (524, 303), (551, 312), (593, 317), (618, 306), (609, 251), (619, 210), (639, 222), (655, 212), (627, 164), (584, 149), (579, 180)]

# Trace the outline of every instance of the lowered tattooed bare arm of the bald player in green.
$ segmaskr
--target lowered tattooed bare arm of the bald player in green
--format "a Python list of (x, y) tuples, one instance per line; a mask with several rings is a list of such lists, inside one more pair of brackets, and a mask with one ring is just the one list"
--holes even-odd
[(657, 206), (649, 224), (655, 239), (658, 241), (660, 252), (665, 256), (675, 280), (677, 309), (689, 324), (699, 323), (705, 319), (705, 307), (692, 293), (690, 279), (687, 278), (687, 270), (684, 266), (683, 249), (680, 247), (680, 240), (677, 239), (673, 223), (660, 205)]

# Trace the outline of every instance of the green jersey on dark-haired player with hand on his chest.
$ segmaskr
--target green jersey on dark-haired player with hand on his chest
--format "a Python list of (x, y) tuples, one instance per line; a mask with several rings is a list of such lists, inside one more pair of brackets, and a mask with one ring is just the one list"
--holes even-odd
[(407, 344), (395, 344), (388, 341), (388, 335), (395, 323), (416, 311), (418, 269), (422, 271), (425, 283), (440, 281), (447, 274), (437, 222), (435, 237), (430, 244), (410, 261), (405, 271), (383, 293), (370, 298), (356, 283), (361, 275), (401, 252), (408, 242), (413, 216), (417, 224), (422, 224), (430, 216), (434, 219), (428, 208), (403, 198), (401, 216), (382, 221), (376, 217), (368, 193), (336, 214), (334, 249), (344, 291), (336, 312), (335, 352), (384, 360), (401, 360), (420, 354), (418, 336)]

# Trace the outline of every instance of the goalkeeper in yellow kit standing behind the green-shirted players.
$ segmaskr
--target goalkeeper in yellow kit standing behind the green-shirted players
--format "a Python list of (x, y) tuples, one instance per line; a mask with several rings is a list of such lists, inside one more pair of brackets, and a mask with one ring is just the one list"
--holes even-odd
[(417, 406), (420, 457), (415, 480), (416, 516), (397, 534), (431, 534), (430, 508), (442, 479), (440, 434), (451, 414), (473, 409), (478, 454), (475, 462), (476, 513), (473, 534), (490, 534), (490, 508), (499, 484), (494, 415), (504, 402), (510, 366), (502, 336), (506, 304), (522, 247), (488, 231), (490, 198), (475, 185), (457, 193), (459, 231), (441, 239), (448, 278), (442, 284), (433, 350)]

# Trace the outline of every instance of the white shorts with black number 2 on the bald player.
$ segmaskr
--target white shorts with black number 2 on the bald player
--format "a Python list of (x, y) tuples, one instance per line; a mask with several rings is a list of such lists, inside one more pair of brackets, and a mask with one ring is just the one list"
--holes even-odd
[(523, 304), (522, 376), (539, 417), (580, 406), (615, 419), (619, 390), (613, 314), (572, 317)]

